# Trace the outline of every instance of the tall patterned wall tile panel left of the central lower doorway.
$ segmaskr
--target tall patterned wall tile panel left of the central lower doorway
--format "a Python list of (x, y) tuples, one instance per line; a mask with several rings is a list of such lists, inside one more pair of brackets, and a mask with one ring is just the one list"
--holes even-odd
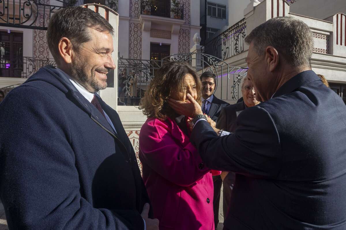
[(142, 59), (142, 24), (130, 22), (129, 58)]

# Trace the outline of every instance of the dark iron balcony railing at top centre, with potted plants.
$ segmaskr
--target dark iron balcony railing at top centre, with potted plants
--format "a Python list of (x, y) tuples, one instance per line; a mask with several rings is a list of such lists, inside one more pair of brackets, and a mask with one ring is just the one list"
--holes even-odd
[(177, 1), (141, 0), (140, 13), (166, 18), (184, 19), (184, 4)]

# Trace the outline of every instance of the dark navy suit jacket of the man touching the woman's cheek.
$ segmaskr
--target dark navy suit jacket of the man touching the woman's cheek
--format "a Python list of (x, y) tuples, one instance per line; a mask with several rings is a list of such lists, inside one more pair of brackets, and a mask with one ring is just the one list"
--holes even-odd
[(229, 229), (346, 229), (346, 106), (304, 71), (239, 114), (219, 138), (198, 122), (190, 141), (207, 167), (237, 173)]

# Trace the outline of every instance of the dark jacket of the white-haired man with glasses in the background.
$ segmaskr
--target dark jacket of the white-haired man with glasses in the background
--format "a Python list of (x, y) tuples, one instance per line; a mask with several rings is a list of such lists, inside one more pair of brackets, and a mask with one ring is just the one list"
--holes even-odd
[(216, 128), (223, 129), (227, 132), (235, 132), (237, 128), (236, 119), (245, 108), (244, 101), (222, 108), (216, 122)]

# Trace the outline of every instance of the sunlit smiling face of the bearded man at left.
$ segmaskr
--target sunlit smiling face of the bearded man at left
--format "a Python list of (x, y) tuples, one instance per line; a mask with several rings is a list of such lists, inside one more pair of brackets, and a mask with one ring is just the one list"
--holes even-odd
[(91, 40), (81, 45), (74, 52), (71, 73), (80, 84), (90, 92), (97, 92), (107, 87), (107, 73), (115, 69), (111, 56), (113, 38), (109, 32), (100, 32), (89, 28)]

